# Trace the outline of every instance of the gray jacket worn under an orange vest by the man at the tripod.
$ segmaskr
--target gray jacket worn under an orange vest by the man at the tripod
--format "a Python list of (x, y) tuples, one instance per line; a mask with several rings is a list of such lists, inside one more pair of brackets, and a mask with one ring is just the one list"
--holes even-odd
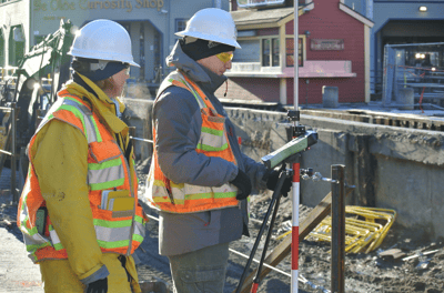
[[(218, 113), (226, 117), (214, 91), (226, 80), (201, 67), (183, 53), (176, 42), (167, 63), (183, 70), (206, 94)], [(234, 125), (226, 119), (229, 142), (238, 166), (221, 158), (206, 156), (195, 151), (201, 135), (201, 112), (195, 98), (185, 89), (170, 87), (158, 98), (153, 107), (157, 128), (159, 165), (172, 181), (203, 186), (220, 186), (238, 175), (238, 168), (250, 176), (253, 189), (265, 189), (261, 179), (266, 172), (243, 154), (239, 148)], [(210, 245), (226, 243), (248, 234), (246, 201), (241, 206), (189, 214), (160, 212), (159, 253), (176, 255)]]

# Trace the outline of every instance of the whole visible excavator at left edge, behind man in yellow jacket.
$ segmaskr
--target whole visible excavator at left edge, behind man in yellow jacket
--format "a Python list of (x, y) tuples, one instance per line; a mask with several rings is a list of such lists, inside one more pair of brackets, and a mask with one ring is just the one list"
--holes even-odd
[[(54, 102), (57, 92), (70, 78), (69, 49), (74, 40), (73, 24), (60, 21), (60, 28), (33, 46), (19, 61), (13, 77), (0, 81), (0, 105), (16, 103), (19, 109), (16, 123), (16, 153), (20, 153), (19, 189), (23, 186), (28, 170), (24, 148), (36, 132), (39, 117)], [(3, 70), (4, 73), (4, 70)], [(11, 150), (10, 112), (0, 111), (0, 149)], [(10, 164), (10, 156), (0, 153), (0, 173)]]

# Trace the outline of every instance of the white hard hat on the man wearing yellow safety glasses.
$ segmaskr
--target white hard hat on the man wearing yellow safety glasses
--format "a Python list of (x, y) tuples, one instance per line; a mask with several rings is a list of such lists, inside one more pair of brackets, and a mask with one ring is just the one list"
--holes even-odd
[(219, 8), (205, 8), (195, 12), (179, 37), (193, 37), (206, 41), (224, 43), (241, 49), (236, 42), (238, 31), (230, 12)]

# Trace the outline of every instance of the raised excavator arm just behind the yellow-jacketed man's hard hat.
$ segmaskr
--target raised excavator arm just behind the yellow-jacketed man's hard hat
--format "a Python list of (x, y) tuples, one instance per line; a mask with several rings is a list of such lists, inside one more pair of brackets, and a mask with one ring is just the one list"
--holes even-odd
[[(20, 108), (17, 138), (23, 145), (36, 131), (38, 110), (44, 112), (70, 77), (68, 51), (74, 39), (73, 26), (61, 20), (60, 28), (31, 48), (19, 62), (13, 101)], [(48, 75), (51, 79), (47, 78)]]

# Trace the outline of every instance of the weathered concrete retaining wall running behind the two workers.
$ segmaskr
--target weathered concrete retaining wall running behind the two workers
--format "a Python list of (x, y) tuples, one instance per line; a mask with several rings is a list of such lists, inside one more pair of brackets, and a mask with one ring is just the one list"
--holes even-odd
[[(151, 139), (152, 101), (127, 99), (125, 117), (137, 135)], [(242, 138), (242, 150), (260, 159), (287, 142), (286, 113), (226, 108)], [(302, 155), (301, 168), (331, 176), (332, 164), (346, 165), (346, 181), (355, 185), (347, 204), (394, 209), (396, 223), (417, 226), (430, 238), (444, 236), (444, 135), (330, 118), (301, 115), (301, 124), (315, 129), (319, 142)], [(150, 155), (137, 143), (138, 159)], [(326, 182), (301, 182), (301, 203), (315, 206), (331, 190)]]

